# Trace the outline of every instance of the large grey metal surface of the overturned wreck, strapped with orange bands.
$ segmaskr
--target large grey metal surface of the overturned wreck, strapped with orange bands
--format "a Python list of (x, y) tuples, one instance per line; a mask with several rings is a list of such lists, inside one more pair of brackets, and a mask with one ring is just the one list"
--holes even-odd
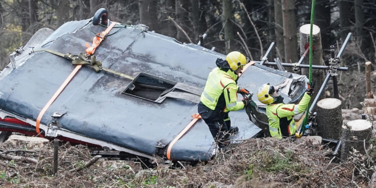
[[(87, 21), (69, 22), (46, 41), (44, 48), (61, 53), (79, 53), (91, 44), (94, 34)], [(80, 30), (77, 28), (84, 27)], [(95, 32), (105, 28), (92, 26)], [(114, 29), (116, 30), (116, 29)], [(52, 42), (51, 42), (52, 41)], [(135, 77), (140, 72), (203, 88), (209, 72), (221, 54), (192, 45), (182, 45), (157, 34), (124, 28), (109, 36), (96, 49), (97, 60), (106, 68)], [(68, 60), (37, 52), (29, 55), (25, 64), (0, 80), (0, 108), (36, 119), (40, 110), (74, 69)], [(281, 83), (285, 77), (252, 66), (239, 80), (242, 87), (256, 93), (265, 80)], [(41, 123), (48, 124), (54, 112), (67, 111), (58, 118), (61, 128), (88, 137), (108, 141), (147, 154), (154, 154), (158, 142), (168, 144), (197, 113), (197, 104), (166, 99), (157, 104), (121, 94), (130, 80), (107, 73), (95, 73), (83, 67), (51, 105)], [(242, 110), (230, 113), (233, 125), (238, 125), (242, 138), (259, 131)], [(172, 158), (209, 159), (213, 138), (201, 121), (173, 147)], [(189, 158), (187, 158), (189, 156)]]

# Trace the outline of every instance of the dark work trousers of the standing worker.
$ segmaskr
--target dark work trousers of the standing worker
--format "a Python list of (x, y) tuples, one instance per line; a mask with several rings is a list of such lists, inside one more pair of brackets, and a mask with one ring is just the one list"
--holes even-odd
[[(218, 141), (218, 146), (224, 148), (226, 146), (226, 141), (229, 139), (229, 130), (231, 127), (231, 121), (225, 122), (224, 119), (228, 119), (229, 113), (223, 111), (211, 110), (206, 107), (203, 103), (199, 103), (198, 111), (208, 125), (213, 138)], [(229, 123), (229, 124), (227, 124)]]

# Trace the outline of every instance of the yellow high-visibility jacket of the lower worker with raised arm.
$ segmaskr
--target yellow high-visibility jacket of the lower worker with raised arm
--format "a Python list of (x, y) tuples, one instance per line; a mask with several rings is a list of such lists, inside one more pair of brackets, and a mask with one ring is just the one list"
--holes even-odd
[(269, 132), (272, 137), (295, 135), (296, 127), (294, 115), (302, 113), (308, 106), (311, 96), (304, 94), (299, 104), (269, 104), (266, 106), (266, 115), (269, 119)]

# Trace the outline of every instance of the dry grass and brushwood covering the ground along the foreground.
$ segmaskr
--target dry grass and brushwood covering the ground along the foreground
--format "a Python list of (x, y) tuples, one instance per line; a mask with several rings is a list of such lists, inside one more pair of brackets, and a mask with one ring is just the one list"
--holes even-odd
[(325, 145), (291, 139), (246, 140), (211, 161), (185, 165), (185, 169), (164, 164), (160, 158), (156, 167), (146, 169), (139, 162), (101, 158), (79, 172), (69, 170), (92, 156), (85, 146), (65, 143), (59, 148), (56, 176), (52, 175), (52, 143), (32, 148), (6, 142), (0, 149), (36, 151), (10, 154), (38, 160), (37, 164), (0, 160), (0, 186), (4, 187), (364, 187), (374, 170), (373, 161), (358, 153), (352, 153), (348, 162), (329, 164), (331, 151)]

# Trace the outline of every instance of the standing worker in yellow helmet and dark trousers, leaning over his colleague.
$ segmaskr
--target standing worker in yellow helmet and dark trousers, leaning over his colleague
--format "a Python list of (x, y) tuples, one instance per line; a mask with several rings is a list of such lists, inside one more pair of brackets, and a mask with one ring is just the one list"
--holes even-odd
[(243, 109), (250, 103), (244, 98), (237, 101), (238, 94), (248, 94), (248, 90), (239, 88), (238, 75), (247, 64), (247, 58), (240, 52), (231, 52), (226, 60), (217, 59), (217, 68), (209, 73), (204, 92), (201, 95), (198, 111), (205, 123), (208, 124), (213, 138), (218, 146), (224, 148), (230, 132), (237, 132), (238, 127), (231, 127), (229, 111)]

